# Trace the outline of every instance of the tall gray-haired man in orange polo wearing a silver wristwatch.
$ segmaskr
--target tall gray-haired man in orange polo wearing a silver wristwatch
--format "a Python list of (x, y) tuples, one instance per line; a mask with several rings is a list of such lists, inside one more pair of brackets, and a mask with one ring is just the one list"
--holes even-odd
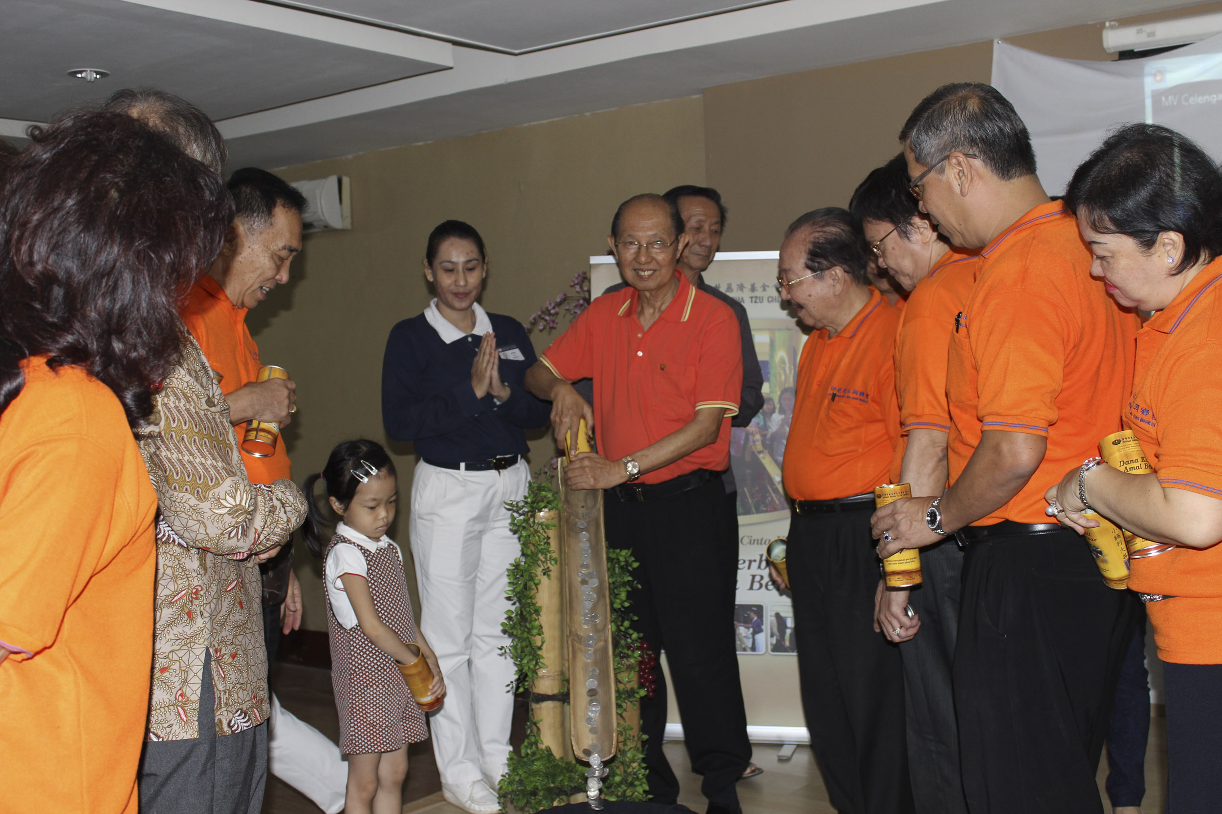
[(953, 686), (969, 810), (1101, 813), (1095, 773), (1135, 597), (1103, 585), (1044, 494), (1097, 464), (1119, 427), (1138, 320), (1091, 278), (1077, 221), (1044, 192), (996, 89), (938, 88), (899, 138), (921, 210), (981, 260), (947, 360), (951, 487), (880, 509), (879, 555), (949, 533), (967, 546)]

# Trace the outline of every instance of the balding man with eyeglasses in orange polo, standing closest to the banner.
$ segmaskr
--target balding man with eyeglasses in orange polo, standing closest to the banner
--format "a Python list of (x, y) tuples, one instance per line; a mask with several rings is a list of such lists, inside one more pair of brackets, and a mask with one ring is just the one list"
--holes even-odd
[[(865, 238), (843, 209), (794, 221), (777, 288), (813, 328), (798, 361), (782, 464), (793, 500), (786, 564), (802, 705), (827, 798), (844, 814), (910, 814), (898, 648), (874, 630), (874, 487), (899, 439), (899, 310), (870, 286)], [(775, 574), (781, 586), (778, 574)]]

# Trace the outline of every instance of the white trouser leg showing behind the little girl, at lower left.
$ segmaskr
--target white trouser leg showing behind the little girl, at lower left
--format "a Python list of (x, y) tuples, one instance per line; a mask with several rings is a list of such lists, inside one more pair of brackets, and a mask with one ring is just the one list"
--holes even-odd
[(268, 771), (314, 801), (326, 814), (343, 810), (348, 764), (340, 747), (271, 696)]

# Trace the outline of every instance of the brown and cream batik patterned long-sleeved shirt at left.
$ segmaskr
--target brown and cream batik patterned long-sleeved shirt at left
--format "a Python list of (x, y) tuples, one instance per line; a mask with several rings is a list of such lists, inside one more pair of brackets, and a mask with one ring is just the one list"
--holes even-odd
[[(185, 332), (186, 333), (186, 332)], [(229, 404), (189, 336), (137, 442), (158, 495), (150, 741), (199, 736), (204, 654), (211, 650), (216, 735), (270, 714), (259, 565), (306, 516), (288, 480), (252, 484)]]

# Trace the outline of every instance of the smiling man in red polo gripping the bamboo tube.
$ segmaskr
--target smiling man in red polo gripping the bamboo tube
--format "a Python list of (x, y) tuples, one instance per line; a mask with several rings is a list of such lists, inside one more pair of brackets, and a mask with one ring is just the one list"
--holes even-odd
[[(752, 748), (734, 655), (738, 541), (721, 472), (743, 361), (734, 312), (676, 271), (687, 239), (660, 195), (624, 201), (607, 242), (629, 288), (595, 299), (530, 369), (527, 388), (552, 403), (557, 443), (577, 437), (582, 417), (598, 436), (599, 452), (574, 456), (567, 483), (607, 489), (607, 543), (639, 563), (637, 626), (653, 650), (666, 650), (709, 812), (738, 814), (734, 783)], [(569, 384), (587, 377), (593, 408)], [(675, 803), (661, 675), (640, 715), (650, 794)]]

